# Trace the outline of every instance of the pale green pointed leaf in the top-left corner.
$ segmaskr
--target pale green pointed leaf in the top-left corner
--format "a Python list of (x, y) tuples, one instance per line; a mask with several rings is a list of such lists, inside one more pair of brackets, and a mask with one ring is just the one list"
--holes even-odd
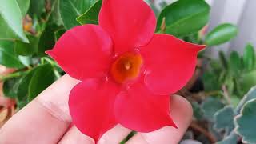
[(29, 42), (22, 29), (22, 14), (16, 0), (0, 0), (0, 39), (18, 38)]

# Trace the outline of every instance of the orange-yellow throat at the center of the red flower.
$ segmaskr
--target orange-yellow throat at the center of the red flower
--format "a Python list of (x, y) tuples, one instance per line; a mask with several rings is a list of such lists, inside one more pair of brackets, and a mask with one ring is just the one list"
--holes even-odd
[(118, 83), (123, 83), (138, 77), (142, 66), (142, 57), (136, 53), (120, 55), (112, 64), (110, 74)]

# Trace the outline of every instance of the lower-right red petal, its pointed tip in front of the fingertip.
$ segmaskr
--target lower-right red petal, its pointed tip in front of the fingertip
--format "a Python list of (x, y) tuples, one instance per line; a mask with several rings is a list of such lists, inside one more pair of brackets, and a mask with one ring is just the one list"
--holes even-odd
[(139, 132), (150, 132), (163, 126), (176, 127), (170, 118), (170, 96), (151, 94), (143, 82), (118, 94), (114, 114), (122, 126)]

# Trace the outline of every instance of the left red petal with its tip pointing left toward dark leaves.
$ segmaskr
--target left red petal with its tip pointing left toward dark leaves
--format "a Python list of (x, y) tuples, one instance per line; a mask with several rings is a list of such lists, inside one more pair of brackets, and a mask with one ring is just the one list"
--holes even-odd
[(47, 51), (67, 74), (83, 80), (106, 74), (113, 53), (110, 36), (100, 26), (76, 26)]

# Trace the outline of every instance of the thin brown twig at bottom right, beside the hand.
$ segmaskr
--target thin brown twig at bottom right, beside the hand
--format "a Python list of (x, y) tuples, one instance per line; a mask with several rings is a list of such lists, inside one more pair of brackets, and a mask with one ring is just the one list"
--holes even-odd
[(202, 126), (199, 126), (197, 122), (191, 122), (190, 128), (204, 134), (206, 138), (210, 140), (210, 142), (212, 143), (217, 142), (217, 139), (214, 137), (214, 135), (210, 134), (206, 129), (202, 128)]

